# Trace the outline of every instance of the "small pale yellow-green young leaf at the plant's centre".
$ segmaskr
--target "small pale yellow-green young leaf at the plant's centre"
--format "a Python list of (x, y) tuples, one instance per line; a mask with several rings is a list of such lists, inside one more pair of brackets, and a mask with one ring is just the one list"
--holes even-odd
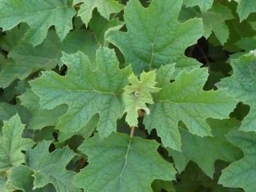
[(130, 126), (137, 126), (138, 110), (144, 110), (146, 114), (149, 114), (149, 109), (146, 107), (146, 103), (153, 104), (153, 98), (151, 93), (160, 91), (160, 88), (155, 87), (155, 71), (149, 71), (148, 73), (142, 72), (140, 80), (132, 73), (128, 80), (130, 85), (126, 85), (123, 89), (123, 103), (125, 106), (124, 112), (126, 114), (126, 122)]

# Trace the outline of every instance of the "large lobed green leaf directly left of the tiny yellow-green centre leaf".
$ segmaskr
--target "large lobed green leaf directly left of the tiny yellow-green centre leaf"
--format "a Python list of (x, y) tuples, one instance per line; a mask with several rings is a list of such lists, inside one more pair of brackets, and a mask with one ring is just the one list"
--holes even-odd
[(99, 114), (97, 129), (101, 137), (107, 137), (117, 129), (117, 119), (123, 114), (121, 93), (128, 84), (130, 68), (120, 70), (114, 51), (107, 48), (97, 51), (95, 71), (80, 51), (64, 54), (62, 61), (67, 64), (67, 76), (49, 71), (30, 82), (35, 94), (40, 96), (41, 109), (69, 105), (56, 125), (62, 132), (77, 132), (94, 114)]

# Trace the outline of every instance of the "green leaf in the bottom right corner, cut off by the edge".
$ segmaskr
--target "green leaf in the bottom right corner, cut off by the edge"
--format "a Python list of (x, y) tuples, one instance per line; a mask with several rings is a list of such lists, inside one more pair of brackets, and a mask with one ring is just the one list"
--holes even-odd
[(229, 187), (243, 188), (246, 192), (254, 192), (255, 185), (255, 132), (230, 132), (228, 140), (244, 151), (244, 158), (225, 168), (219, 180), (220, 184)]

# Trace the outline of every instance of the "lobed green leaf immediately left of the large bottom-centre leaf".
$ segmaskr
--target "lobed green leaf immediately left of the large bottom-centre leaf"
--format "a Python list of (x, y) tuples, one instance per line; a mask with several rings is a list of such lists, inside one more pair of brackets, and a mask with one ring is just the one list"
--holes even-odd
[(76, 173), (65, 168), (76, 155), (68, 147), (56, 149), (49, 153), (51, 141), (42, 141), (35, 148), (26, 152), (26, 164), (33, 170), (34, 188), (53, 184), (57, 192), (79, 191), (72, 179)]

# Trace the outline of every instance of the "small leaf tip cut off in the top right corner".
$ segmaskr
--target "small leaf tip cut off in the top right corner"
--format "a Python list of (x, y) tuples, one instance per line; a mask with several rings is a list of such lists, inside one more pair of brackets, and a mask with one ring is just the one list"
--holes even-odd
[(256, 1), (255, 0), (234, 0), (237, 1), (237, 12), (240, 20), (246, 19), (251, 12), (256, 12)]

